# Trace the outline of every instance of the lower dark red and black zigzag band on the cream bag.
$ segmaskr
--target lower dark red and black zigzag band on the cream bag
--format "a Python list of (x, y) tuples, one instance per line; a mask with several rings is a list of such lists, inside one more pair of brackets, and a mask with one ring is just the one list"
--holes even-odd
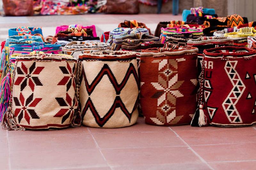
[[(137, 97), (137, 100), (135, 102), (135, 105), (133, 106), (132, 109), (132, 113), (134, 112), (134, 110), (138, 107), (138, 103), (139, 103), (139, 95)], [(123, 111), (124, 115), (128, 118), (129, 122), (131, 122), (131, 118), (132, 118), (132, 113), (129, 113), (129, 111), (127, 110), (127, 108), (124, 106), (123, 101), (121, 100), (120, 96), (116, 96), (116, 99), (113, 103), (113, 105), (110, 107), (110, 109), (108, 110), (108, 112), (101, 118), (99, 113), (97, 112), (96, 108), (94, 107), (91, 98), (89, 98), (86, 101), (83, 113), (82, 113), (82, 120), (84, 119), (84, 116), (87, 112), (88, 109), (91, 110), (92, 115), (95, 119), (95, 122), (100, 126), (103, 127), (105, 125), (106, 122), (108, 122), (108, 120), (112, 117), (112, 115), (115, 113), (116, 108), (120, 107), (120, 109)]]

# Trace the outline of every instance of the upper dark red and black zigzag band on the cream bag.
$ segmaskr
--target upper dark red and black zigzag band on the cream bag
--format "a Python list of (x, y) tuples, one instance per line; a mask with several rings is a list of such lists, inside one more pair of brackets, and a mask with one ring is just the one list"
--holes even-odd
[[(95, 89), (95, 87), (98, 85), (98, 83), (100, 82), (100, 80), (103, 78), (104, 75), (107, 75), (111, 84), (113, 85), (113, 87), (116, 90), (116, 94), (120, 94), (120, 92), (122, 91), (122, 89), (124, 88), (125, 84), (127, 83), (129, 77), (131, 76), (131, 74), (133, 74), (138, 89), (140, 88), (140, 83), (139, 83), (139, 77), (137, 75), (136, 69), (134, 67), (134, 65), (132, 63), (130, 63), (129, 68), (126, 71), (126, 74), (124, 76), (124, 79), (122, 80), (122, 82), (120, 84), (117, 83), (116, 78), (114, 76), (114, 74), (112, 73), (111, 69), (109, 68), (108, 64), (104, 64), (103, 67), (101, 68), (99, 74), (96, 76), (96, 78), (92, 81), (92, 84), (89, 85), (86, 75), (85, 75), (85, 71), (84, 71), (84, 67), (82, 70), (82, 75), (84, 76), (84, 81), (85, 81), (85, 86), (86, 86), (86, 90), (88, 92), (89, 95), (92, 94), (93, 90)], [(80, 78), (80, 85), (82, 82), (82, 78)]]

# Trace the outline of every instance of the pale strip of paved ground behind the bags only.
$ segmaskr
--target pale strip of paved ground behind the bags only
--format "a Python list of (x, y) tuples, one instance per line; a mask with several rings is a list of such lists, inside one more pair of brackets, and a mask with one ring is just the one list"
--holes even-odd
[(104, 31), (115, 29), (120, 22), (136, 19), (145, 23), (152, 32), (155, 31), (159, 21), (181, 20), (181, 15), (171, 14), (140, 14), (140, 15), (102, 15), (86, 14), (76, 16), (33, 16), (33, 17), (1, 17), (0, 16), (0, 41), (8, 36), (8, 29), (18, 26), (42, 27), (43, 35), (54, 35), (56, 26), (81, 24), (84, 26), (95, 25), (100, 36)]

